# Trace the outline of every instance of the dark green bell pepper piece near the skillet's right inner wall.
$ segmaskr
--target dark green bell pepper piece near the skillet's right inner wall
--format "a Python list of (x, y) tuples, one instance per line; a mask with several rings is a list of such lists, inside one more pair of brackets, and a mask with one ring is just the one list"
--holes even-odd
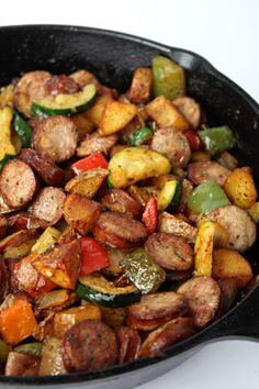
[(199, 136), (210, 155), (225, 152), (236, 144), (235, 135), (227, 125), (199, 131)]

